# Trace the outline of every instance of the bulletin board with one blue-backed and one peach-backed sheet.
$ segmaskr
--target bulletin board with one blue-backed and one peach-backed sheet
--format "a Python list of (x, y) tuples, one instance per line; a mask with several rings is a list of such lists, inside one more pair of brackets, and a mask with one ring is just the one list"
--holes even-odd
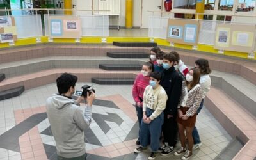
[(49, 35), (51, 38), (81, 38), (81, 19), (74, 16), (49, 17)]

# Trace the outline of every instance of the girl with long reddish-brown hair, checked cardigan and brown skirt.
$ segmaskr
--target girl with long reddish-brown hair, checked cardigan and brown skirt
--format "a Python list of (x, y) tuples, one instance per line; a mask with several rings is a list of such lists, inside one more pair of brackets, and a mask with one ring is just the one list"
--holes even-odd
[[(181, 147), (174, 153), (175, 156), (184, 154), (181, 159), (189, 159), (192, 156), (192, 131), (196, 124), (196, 111), (203, 96), (199, 80), (200, 70), (191, 68), (186, 75), (186, 83), (182, 86), (182, 96), (180, 97), (177, 117)], [(185, 144), (186, 138), (188, 138), (188, 150)]]

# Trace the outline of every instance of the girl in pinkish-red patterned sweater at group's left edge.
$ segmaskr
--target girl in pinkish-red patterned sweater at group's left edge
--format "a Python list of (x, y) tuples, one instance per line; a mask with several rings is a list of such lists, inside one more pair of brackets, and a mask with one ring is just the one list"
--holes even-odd
[[(149, 85), (149, 75), (152, 71), (154, 71), (154, 65), (150, 62), (144, 63), (141, 69), (141, 73), (138, 74), (138, 76), (136, 77), (132, 87), (132, 97), (135, 101), (135, 108), (138, 117), (139, 127), (141, 125), (141, 120), (143, 117), (143, 93), (146, 86)], [(140, 145), (140, 134), (138, 140), (136, 141), (136, 145)]]

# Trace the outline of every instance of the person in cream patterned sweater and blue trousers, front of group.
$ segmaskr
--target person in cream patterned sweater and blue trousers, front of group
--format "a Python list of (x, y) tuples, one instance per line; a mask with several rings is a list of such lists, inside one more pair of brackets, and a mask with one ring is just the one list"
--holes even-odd
[(147, 150), (150, 145), (152, 150), (148, 159), (155, 159), (159, 148), (161, 125), (164, 122), (164, 109), (168, 99), (164, 88), (159, 84), (160, 72), (150, 74), (150, 85), (146, 87), (143, 94), (143, 121), (141, 122), (140, 140), (141, 146), (134, 152), (140, 153)]

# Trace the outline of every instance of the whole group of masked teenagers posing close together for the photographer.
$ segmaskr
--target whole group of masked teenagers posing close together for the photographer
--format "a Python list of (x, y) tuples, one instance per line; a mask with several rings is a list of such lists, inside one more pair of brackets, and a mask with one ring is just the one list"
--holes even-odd
[(205, 59), (196, 60), (189, 70), (177, 52), (165, 53), (159, 47), (150, 50), (150, 61), (144, 63), (132, 88), (140, 125), (136, 141), (140, 146), (134, 152), (143, 152), (150, 145), (148, 159), (155, 159), (157, 152), (168, 156), (177, 144), (179, 131), (181, 147), (174, 155), (182, 155), (181, 159), (192, 156), (192, 150), (202, 145), (195, 124), (211, 86), (210, 73)]

